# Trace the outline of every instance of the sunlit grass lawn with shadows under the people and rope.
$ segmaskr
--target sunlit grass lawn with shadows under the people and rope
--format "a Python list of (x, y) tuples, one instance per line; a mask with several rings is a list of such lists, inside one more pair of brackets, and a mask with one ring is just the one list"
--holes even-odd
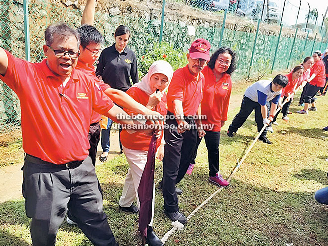
[[(244, 92), (244, 90), (243, 90)], [(243, 93), (241, 92), (241, 93)], [(289, 122), (282, 122), (268, 133), (273, 142), (256, 143), (245, 162), (231, 180), (196, 213), (181, 232), (175, 233), (169, 246), (327, 246), (328, 206), (314, 200), (314, 192), (328, 186), (328, 96), (318, 98), (318, 111), (309, 115), (296, 113), (298, 97), (292, 104)], [(222, 129), (220, 169), (227, 177), (256, 136), (252, 115), (233, 138), (226, 130), (239, 107), (230, 110)], [(189, 215), (217, 189), (208, 179), (204, 141), (198, 150), (194, 172), (186, 176), (179, 188), (180, 210)], [(138, 216), (120, 212), (120, 198), (128, 164), (124, 155), (97, 166), (104, 192), (104, 209), (120, 246), (139, 246)], [(162, 165), (156, 165), (156, 185), (162, 177)], [(162, 212), (163, 197), (155, 194), (154, 230), (162, 238), (171, 229)], [(0, 246), (31, 245), (29, 219), (24, 201), (0, 204)], [(90, 246), (80, 229), (63, 223), (57, 237), (58, 246)]]

